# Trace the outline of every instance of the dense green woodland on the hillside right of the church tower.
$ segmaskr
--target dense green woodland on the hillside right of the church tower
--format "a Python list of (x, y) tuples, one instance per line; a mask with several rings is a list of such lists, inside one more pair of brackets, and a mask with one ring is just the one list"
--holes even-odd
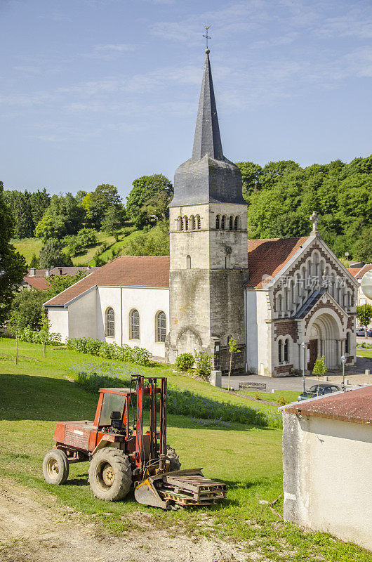
[(248, 237), (306, 235), (312, 211), (339, 256), (372, 261), (372, 156), (301, 168), (295, 162), (237, 162), (248, 202)]

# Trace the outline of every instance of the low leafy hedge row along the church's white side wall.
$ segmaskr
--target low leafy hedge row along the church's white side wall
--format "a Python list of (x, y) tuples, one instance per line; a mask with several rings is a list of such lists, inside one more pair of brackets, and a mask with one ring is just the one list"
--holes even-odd
[(137, 346), (106, 344), (105, 341), (95, 338), (68, 338), (66, 345), (67, 348), (80, 353), (90, 353), (91, 355), (98, 355), (98, 357), (136, 363), (145, 367), (151, 365), (152, 354), (150, 351)]

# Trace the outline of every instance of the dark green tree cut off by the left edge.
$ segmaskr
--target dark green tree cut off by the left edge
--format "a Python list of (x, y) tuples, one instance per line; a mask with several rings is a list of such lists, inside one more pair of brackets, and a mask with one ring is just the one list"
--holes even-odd
[(27, 274), (25, 258), (11, 244), (13, 237), (13, 217), (4, 201), (4, 185), (0, 182), (0, 323), (8, 315), (11, 303)]

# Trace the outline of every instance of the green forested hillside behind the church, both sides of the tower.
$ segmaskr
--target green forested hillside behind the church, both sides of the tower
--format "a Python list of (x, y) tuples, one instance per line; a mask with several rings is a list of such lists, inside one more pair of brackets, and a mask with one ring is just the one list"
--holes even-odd
[[(372, 261), (372, 156), (307, 168), (291, 160), (237, 164), (248, 203), (248, 237), (306, 235), (317, 211), (321, 236), (336, 255), (347, 251), (350, 259)], [(52, 256), (59, 261), (54, 265), (101, 265), (121, 253), (168, 253), (172, 196), (173, 186), (162, 174), (135, 179), (126, 202), (109, 184), (77, 195), (4, 192), (19, 239), (15, 246), (29, 265), (34, 248), (33, 263), (41, 267)]]

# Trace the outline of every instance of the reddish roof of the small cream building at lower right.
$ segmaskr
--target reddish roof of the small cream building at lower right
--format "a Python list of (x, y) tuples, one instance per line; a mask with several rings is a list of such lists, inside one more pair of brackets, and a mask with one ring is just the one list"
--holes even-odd
[(357, 424), (371, 424), (372, 385), (288, 404), (282, 410), (303, 416), (326, 417), (328, 419), (354, 421)]

